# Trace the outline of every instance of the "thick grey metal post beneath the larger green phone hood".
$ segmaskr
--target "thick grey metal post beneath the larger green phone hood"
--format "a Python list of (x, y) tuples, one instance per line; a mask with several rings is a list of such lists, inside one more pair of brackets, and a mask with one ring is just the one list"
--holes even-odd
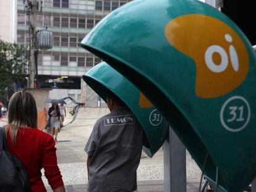
[(169, 126), (164, 142), (164, 192), (186, 192), (186, 148)]

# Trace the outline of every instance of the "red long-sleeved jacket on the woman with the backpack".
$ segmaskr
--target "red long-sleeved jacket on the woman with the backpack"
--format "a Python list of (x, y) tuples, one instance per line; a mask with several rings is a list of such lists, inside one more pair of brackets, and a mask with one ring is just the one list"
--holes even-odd
[(46, 188), (41, 179), (41, 169), (52, 189), (64, 185), (57, 164), (55, 141), (51, 135), (35, 128), (19, 128), (17, 144), (13, 144), (8, 134), (9, 151), (22, 162), (30, 178), (31, 190), (45, 192)]

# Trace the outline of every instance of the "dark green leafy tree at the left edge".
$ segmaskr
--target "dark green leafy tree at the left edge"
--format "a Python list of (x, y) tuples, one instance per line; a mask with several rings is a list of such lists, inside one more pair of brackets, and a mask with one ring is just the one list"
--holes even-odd
[(6, 99), (6, 87), (25, 80), (26, 69), (25, 47), (0, 40), (0, 100)]

